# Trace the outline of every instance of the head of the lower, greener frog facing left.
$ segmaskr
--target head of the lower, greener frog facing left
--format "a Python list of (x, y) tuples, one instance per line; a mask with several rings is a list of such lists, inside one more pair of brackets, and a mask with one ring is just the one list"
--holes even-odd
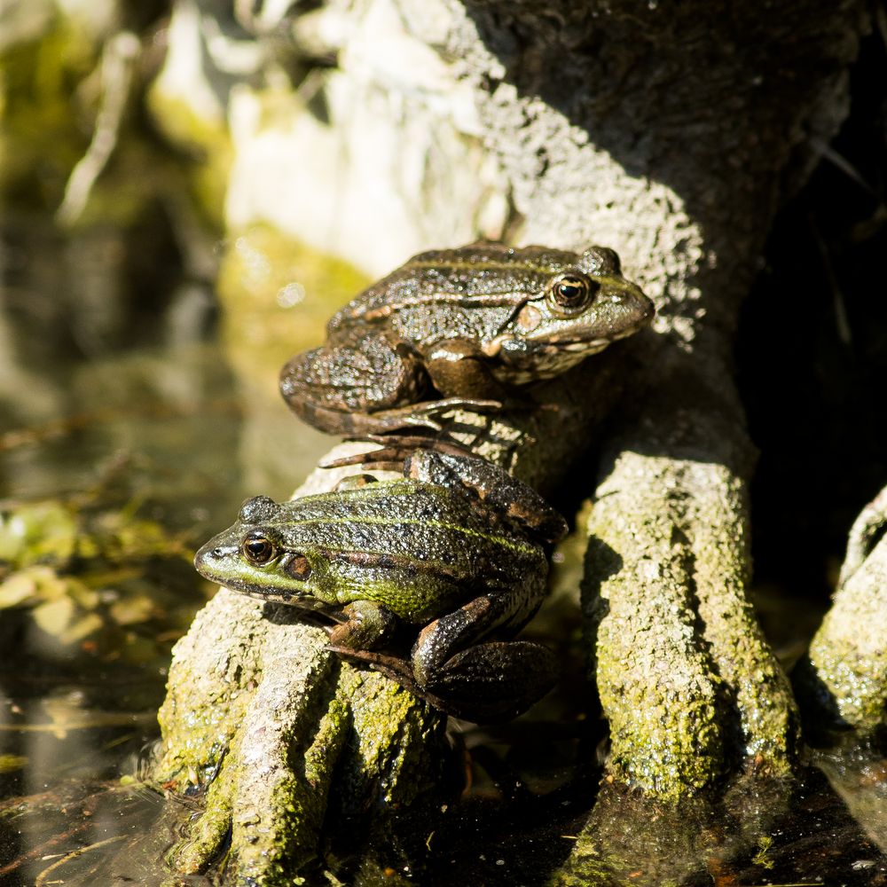
[(267, 496), (247, 499), (237, 522), (200, 548), (194, 567), (212, 582), (262, 600), (319, 608), (311, 590), (316, 552), (286, 545), (284, 509)]

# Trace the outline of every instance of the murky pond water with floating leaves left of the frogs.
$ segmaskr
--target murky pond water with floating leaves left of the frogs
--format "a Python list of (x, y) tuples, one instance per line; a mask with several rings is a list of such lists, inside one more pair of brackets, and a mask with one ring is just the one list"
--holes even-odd
[(0, 884), (161, 882), (182, 810), (120, 780), (212, 593), (192, 552), (327, 449), (235, 377), (215, 302), (161, 216), (0, 227)]

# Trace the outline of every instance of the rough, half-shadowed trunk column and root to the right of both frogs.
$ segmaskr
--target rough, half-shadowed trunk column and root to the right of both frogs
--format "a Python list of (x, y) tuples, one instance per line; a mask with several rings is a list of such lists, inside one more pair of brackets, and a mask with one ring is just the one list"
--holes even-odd
[(773, 209), (844, 114), (860, 10), (467, 10), (460, 33), (482, 43), (459, 56), (493, 84), (479, 103), (521, 238), (616, 243), (660, 309), (589, 525), (614, 773), (666, 797), (737, 758), (788, 773), (795, 707), (745, 599), (752, 453), (731, 334)]

